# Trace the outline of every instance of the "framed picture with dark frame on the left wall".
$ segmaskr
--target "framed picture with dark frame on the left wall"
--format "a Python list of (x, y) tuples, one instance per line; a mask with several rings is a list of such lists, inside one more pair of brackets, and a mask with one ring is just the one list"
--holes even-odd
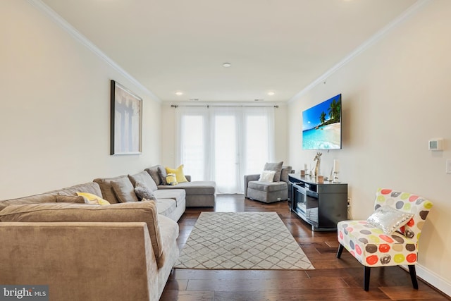
[(142, 153), (142, 98), (111, 80), (110, 154)]

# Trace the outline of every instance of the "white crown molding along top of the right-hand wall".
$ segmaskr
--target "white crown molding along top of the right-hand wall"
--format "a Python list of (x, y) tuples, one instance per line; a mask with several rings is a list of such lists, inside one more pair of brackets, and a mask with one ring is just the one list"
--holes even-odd
[(313, 82), (311, 82), (307, 87), (304, 87), (300, 92), (295, 94), (295, 96), (291, 97), (288, 100), (288, 103), (294, 102), (296, 99), (299, 99), (299, 97), (302, 97), (302, 95), (309, 92), (311, 89), (313, 89), (316, 85), (324, 82), (327, 80), (327, 78), (335, 73), (336, 71), (340, 70), (343, 66), (347, 65), (350, 61), (352, 61), (355, 57), (359, 56), (363, 51), (366, 51), (366, 49), (369, 49), (373, 44), (376, 44), (380, 39), (385, 37), (385, 35), (388, 34), (391, 30), (393, 30), (395, 27), (403, 23), (405, 20), (413, 16), (418, 11), (421, 11), (421, 9), (431, 2), (431, 0), (418, 0), (412, 6), (409, 6), (407, 10), (405, 10), (403, 13), (400, 14), (400, 16), (397, 16), (394, 20), (392, 20), (388, 25), (385, 25), (381, 30), (376, 32), (372, 37), (367, 39), (363, 44), (361, 44), (359, 47), (354, 49), (350, 54), (345, 56), (344, 59), (342, 59), (340, 62), (338, 62), (335, 66), (330, 68), (326, 71), (323, 75), (321, 75), (319, 78), (316, 78)]

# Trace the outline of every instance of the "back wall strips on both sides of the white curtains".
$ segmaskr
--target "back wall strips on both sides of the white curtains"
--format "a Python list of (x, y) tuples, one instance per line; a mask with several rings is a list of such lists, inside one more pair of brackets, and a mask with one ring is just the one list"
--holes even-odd
[[(276, 161), (288, 162), (288, 151), (287, 151), (287, 105), (278, 104), (278, 108), (274, 109), (274, 124), (275, 124), (275, 135), (276, 135)], [(164, 166), (175, 166), (176, 156), (175, 156), (175, 139), (176, 139), (176, 126), (177, 121), (175, 118), (175, 108), (171, 108), (171, 104), (161, 105), (161, 123), (162, 123), (162, 133), (161, 137), (161, 162)], [(263, 168), (263, 166), (261, 166)]]

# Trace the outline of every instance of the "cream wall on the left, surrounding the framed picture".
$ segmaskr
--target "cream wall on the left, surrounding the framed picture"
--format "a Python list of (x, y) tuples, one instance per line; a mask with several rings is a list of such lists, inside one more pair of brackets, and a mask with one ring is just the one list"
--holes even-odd
[[(0, 1), (0, 199), (159, 163), (160, 106), (27, 1)], [(143, 154), (109, 155), (110, 80), (143, 98)]]

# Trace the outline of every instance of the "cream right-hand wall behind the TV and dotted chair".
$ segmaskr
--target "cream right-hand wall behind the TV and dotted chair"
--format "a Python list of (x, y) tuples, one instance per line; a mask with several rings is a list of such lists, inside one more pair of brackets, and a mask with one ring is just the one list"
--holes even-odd
[[(414, 192), (434, 204), (419, 242), (419, 276), (451, 295), (451, 1), (435, 0), (388, 35), (290, 102), (289, 161), (299, 170), (313, 165), (302, 151), (302, 111), (342, 93), (343, 147), (323, 152), (328, 176), (340, 160), (349, 184), (352, 218), (373, 211), (376, 189)], [(445, 150), (431, 152), (428, 140), (443, 137)]]

